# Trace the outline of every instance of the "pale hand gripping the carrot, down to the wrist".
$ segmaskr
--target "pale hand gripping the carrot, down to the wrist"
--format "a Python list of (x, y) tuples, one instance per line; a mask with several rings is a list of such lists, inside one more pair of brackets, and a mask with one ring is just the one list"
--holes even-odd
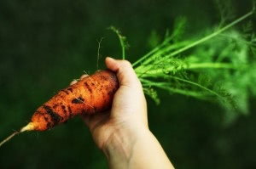
[(108, 69), (116, 72), (119, 79), (119, 89), (114, 94), (112, 109), (97, 115), (84, 115), (96, 145), (103, 151), (109, 143), (116, 142), (119, 132), (131, 132), (132, 137), (134, 133), (148, 128), (143, 87), (131, 64), (111, 58), (105, 61)]

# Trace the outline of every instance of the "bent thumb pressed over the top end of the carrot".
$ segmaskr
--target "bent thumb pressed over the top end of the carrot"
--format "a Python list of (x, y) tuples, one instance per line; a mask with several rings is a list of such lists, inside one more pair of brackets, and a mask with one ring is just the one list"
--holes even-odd
[(121, 86), (133, 87), (141, 84), (129, 61), (107, 57), (105, 62), (108, 69), (117, 73)]

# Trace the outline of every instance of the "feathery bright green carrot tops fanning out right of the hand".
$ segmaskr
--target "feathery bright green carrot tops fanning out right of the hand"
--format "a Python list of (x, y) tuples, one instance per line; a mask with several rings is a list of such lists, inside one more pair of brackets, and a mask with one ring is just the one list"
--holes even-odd
[[(230, 1), (224, 6), (220, 3), (222, 25), (233, 13), (227, 9)], [(157, 104), (160, 99), (154, 87), (218, 102), (225, 110), (226, 124), (239, 114), (247, 115), (248, 99), (251, 92), (255, 94), (256, 84), (255, 34), (250, 21), (242, 25), (242, 31), (236, 31), (234, 26), (252, 14), (253, 11), (229, 25), (212, 29), (216, 30), (212, 33), (207, 31), (206, 37), (195, 36), (192, 40), (183, 40), (186, 19), (177, 19), (172, 35), (167, 32), (160, 45), (133, 64), (144, 92)], [(152, 42), (159, 44), (156, 37), (154, 32)]]

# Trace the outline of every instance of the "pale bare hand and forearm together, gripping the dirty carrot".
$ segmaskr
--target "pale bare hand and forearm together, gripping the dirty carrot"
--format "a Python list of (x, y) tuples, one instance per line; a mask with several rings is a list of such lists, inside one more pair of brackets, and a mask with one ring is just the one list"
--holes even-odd
[[(112, 109), (97, 115), (83, 116), (99, 149), (112, 169), (172, 169), (164, 149), (148, 129), (147, 102), (143, 87), (131, 64), (107, 58), (109, 70), (116, 72), (119, 89)], [(88, 75), (81, 76), (81, 79)], [(76, 81), (71, 82), (71, 85)]]

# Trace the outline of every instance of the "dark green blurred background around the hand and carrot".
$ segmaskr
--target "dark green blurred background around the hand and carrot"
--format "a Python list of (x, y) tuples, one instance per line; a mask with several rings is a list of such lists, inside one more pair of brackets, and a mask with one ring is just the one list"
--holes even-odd
[[(251, 1), (234, 0), (236, 16)], [(26, 125), (34, 110), (84, 71), (99, 69), (105, 56), (120, 59), (119, 40), (106, 28), (118, 27), (136, 61), (164, 36), (173, 21), (188, 19), (189, 34), (217, 25), (214, 1), (130, 0), (0, 1), (0, 139)], [(161, 37), (159, 37), (161, 38)], [(256, 99), (249, 115), (224, 126), (218, 104), (159, 91), (161, 104), (148, 100), (149, 127), (176, 168), (255, 168)], [(75, 117), (47, 132), (26, 132), (0, 149), (0, 168), (108, 168), (84, 123)]]

